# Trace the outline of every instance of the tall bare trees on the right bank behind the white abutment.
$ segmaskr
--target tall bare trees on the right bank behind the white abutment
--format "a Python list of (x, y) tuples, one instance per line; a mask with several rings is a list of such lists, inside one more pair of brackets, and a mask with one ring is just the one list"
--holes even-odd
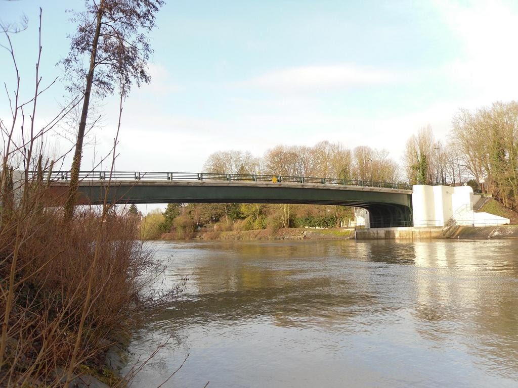
[(474, 111), (459, 110), (445, 141), (430, 127), (407, 141), (404, 165), (411, 184), (467, 183), (518, 210), (518, 102), (495, 102)]

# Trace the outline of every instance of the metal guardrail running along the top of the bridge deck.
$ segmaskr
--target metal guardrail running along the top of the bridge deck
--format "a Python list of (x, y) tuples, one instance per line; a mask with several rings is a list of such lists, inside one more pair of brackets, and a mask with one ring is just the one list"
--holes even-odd
[[(44, 173), (50, 181), (68, 181), (70, 171)], [(411, 190), (404, 183), (376, 181), (356, 181), (350, 179), (318, 178), (307, 176), (260, 175), (260, 174), (219, 174), (208, 172), (143, 172), (143, 171), (80, 171), (79, 180), (127, 182), (127, 181), (226, 181), (226, 182), (274, 182), (274, 183), (313, 183), (321, 185), (380, 187)]]

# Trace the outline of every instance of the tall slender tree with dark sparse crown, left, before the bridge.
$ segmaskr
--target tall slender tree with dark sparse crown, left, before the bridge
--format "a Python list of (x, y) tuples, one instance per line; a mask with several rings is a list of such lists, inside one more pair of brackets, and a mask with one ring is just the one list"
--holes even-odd
[[(140, 85), (150, 81), (146, 66), (151, 48), (142, 32), (154, 27), (155, 13), (163, 4), (164, 0), (86, 0), (86, 9), (75, 13), (77, 32), (70, 37), (70, 52), (62, 61), (70, 77), (70, 89), (83, 96), (65, 205), (68, 218), (74, 212), (91, 94), (112, 94), (114, 85), (122, 79), (126, 96), (132, 82)], [(86, 66), (85, 58), (89, 58)]]

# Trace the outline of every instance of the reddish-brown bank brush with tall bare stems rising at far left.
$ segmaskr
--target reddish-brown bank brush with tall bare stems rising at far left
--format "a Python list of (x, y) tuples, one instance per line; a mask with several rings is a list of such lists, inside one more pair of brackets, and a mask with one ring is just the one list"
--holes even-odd
[[(105, 203), (64, 217), (64, 198), (49, 194), (56, 163), (44, 161), (45, 135), (80, 98), (36, 128), (37, 101), (55, 81), (40, 86), (41, 12), (36, 82), (28, 101), (22, 102), (10, 39), (17, 31), (0, 26), (17, 76), (8, 95), (11, 117), (0, 118), (0, 387), (66, 387), (81, 372), (102, 369), (105, 351), (121, 333), (174, 299), (180, 287), (149, 287), (164, 268), (142, 250), (135, 216)], [(24, 109), (31, 112), (28, 118)], [(106, 382), (124, 385), (117, 376)]]

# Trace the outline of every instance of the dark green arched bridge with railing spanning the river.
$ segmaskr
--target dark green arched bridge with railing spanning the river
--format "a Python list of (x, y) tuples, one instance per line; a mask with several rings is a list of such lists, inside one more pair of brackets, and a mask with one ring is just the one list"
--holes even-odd
[[(70, 172), (48, 177), (65, 196)], [(363, 207), (370, 227), (412, 226), (412, 188), (406, 184), (304, 176), (189, 172), (89, 171), (79, 174), (78, 204), (303, 203)]]

